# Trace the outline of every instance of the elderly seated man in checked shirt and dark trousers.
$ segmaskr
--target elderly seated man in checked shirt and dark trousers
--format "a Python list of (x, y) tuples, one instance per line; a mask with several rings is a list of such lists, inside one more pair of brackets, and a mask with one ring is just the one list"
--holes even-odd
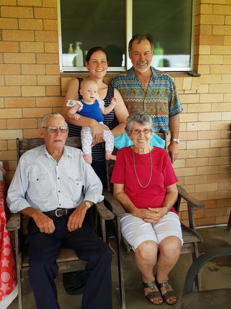
[(87, 261), (81, 309), (110, 309), (112, 252), (84, 219), (103, 200), (102, 184), (82, 151), (65, 146), (68, 128), (60, 114), (44, 116), (39, 132), (45, 145), (22, 155), (7, 196), (11, 212), (30, 217), (28, 278), (36, 307), (60, 308), (54, 279), (63, 245)]

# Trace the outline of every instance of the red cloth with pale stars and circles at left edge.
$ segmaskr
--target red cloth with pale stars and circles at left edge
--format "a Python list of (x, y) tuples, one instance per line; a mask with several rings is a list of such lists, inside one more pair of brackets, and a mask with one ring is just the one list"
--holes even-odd
[(6, 230), (4, 180), (0, 181), (0, 301), (17, 286), (16, 263), (10, 233)]

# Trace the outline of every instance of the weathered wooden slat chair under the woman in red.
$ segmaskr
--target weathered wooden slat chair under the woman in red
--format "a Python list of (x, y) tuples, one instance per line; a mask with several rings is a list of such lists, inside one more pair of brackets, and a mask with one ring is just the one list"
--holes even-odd
[[(166, 133), (158, 133), (158, 135), (165, 140), (165, 149), (167, 150)], [(117, 149), (114, 148), (113, 154), (115, 155)], [(113, 196), (113, 184), (110, 183), (111, 174), (113, 171), (115, 161), (106, 161), (107, 167), (107, 190), (103, 190), (104, 201), (111, 206), (111, 210), (115, 215), (115, 226), (112, 228), (115, 231), (115, 237), (117, 238), (117, 257), (118, 257), (118, 270), (119, 270), (119, 285), (120, 285), (120, 303), (122, 309), (125, 309), (125, 293), (124, 293), (124, 275), (123, 275), (123, 259), (126, 261), (133, 260), (133, 254), (128, 254), (132, 247), (121, 236), (120, 218), (126, 213), (124, 208), (120, 205), (119, 201)], [(201, 243), (202, 237), (196, 231), (195, 219), (194, 219), (194, 207), (197, 209), (204, 208), (205, 204), (201, 201), (191, 197), (181, 186), (177, 185), (178, 197), (174, 209), (179, 212), (180, 201), (183, 198), (188, 205), (188, 220), (189, 227), (181, 223), (181, 230), (183, 235), (184, 244), (181, 248), (181, 253), (192, 253), (193, 261), (198, 257), (197, 243)], [(200, 273), (197, 274), (195, 279), (196, 289), (201, 291), (201, 277)]]

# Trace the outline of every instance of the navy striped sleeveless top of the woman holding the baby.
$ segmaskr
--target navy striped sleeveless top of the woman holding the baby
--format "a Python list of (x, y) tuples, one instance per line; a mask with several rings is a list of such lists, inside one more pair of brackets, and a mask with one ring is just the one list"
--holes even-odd
[[(78, 78), (78, 80), (79, 80), (79, 89), (80, 89), (80, 85), (81, 85), (83, 78)], [(105, 107), (111, 104), (111, 99), (113, 98), (113, 96), (114, 96), (114, 88), (110, 85), (107, 88), (107, 95), (103, 99)], [(82, 100), (82, 99), (83, 97), (79, 93), (79, 100)], [(107, 115), (103, 115), (103, 123), (104, 125), (107, 125), (110, 130), (113, 129), (112, 122), (114, 118), (115, 118), (114, 110), (112, 110)], [(72, 125), (71, 123), (69, 123), (68, 124), (68, 136), (80, 137), (81, 129), (82, 127), (79, 127), (77, 125)], [(103, 161), (105, 159), (105, 150), (103, 147), (103, 143), (99, 143), (95, 145), (94, 147), (92, 147), (91, 152), (92, 152), (92, 161)]]

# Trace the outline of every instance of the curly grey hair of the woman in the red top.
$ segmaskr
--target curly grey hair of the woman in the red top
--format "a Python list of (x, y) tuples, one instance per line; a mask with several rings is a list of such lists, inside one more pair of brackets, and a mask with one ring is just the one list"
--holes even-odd
[(131, 129), (134, 122), (138, 125), (148, 125), (152, 131), (154, 130), (151, 116), (144, 112), (134, 112), (129, 115), (126, 120), (125, 132), (128, 134), (128, 136), (131, 134)]

